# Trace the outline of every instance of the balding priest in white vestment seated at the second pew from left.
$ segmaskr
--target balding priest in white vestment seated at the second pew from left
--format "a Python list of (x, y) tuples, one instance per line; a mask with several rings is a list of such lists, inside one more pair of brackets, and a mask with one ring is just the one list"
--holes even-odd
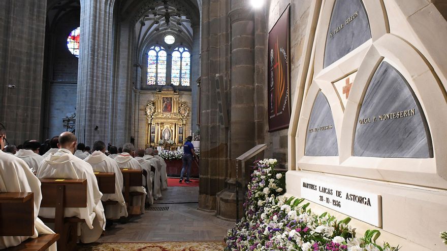
[[(106, 226), (104, 208), (101, 202), (103, 194), (98, 188), (98, 182), (93, 174), (90, 164), (74, 156), (77, 141), (71, 132), (59, 135), (59, 151), (45, 158), (39, 167), (39, 178), (76, 178), (87, 180), (87, 207), (66, 208), (66, 217), (78, 217), (85, 220), (81, 223), (80, 240), (90, 243), (98, 240)], [(39, 216), (54, 218), (54, 208), (42, 207)]]

